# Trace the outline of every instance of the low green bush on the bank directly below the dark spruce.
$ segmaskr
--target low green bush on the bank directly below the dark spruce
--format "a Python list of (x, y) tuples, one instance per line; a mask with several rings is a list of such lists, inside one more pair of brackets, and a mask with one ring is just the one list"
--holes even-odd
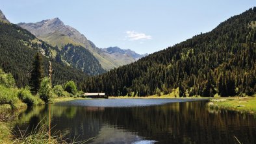
[(19, 99), (27, 104), (28, 107), (44, 104), (44, 101), (37, 96), (33, 96), (31, 91), (27, 89), (21, 89), (18, 93)]

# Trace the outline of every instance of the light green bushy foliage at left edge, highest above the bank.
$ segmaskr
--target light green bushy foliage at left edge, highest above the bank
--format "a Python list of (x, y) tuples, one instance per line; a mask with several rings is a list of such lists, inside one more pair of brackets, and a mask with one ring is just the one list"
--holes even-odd
[(2, 69), (0, 69), (0, 84), (5, 86), (6, 88), (14, 88), (14, 77), (12, 77), (12, 74), (5, 73)]

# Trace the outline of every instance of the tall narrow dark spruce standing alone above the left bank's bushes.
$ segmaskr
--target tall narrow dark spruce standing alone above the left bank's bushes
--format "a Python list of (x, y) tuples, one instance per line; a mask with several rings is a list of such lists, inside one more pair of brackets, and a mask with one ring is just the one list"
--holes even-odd
[(44, 71), (42, 67), (42, 56), (40, 55), (40, 53), (36, 53), (36, 55), (34, 56), (34, 62), (32, 64), (31, 78), (29, 80), (31, 93), (38, 93), (43, 76)]

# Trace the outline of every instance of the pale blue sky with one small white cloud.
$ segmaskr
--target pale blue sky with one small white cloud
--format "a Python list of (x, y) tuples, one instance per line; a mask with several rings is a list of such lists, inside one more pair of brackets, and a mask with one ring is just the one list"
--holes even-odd
[(153, 53), (209, 32), (256, 6), (255, 0), (1, 0), (12, 23), (60, 18), (97, 47)]

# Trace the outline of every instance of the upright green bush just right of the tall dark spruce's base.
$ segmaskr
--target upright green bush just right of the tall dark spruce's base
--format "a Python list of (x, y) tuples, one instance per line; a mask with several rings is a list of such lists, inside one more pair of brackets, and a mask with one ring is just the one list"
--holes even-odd
[(45, 103), (47, 103), (52, 97), (51, 80), (48, 77), (44, 77), (40, 84), (39, 97)]

